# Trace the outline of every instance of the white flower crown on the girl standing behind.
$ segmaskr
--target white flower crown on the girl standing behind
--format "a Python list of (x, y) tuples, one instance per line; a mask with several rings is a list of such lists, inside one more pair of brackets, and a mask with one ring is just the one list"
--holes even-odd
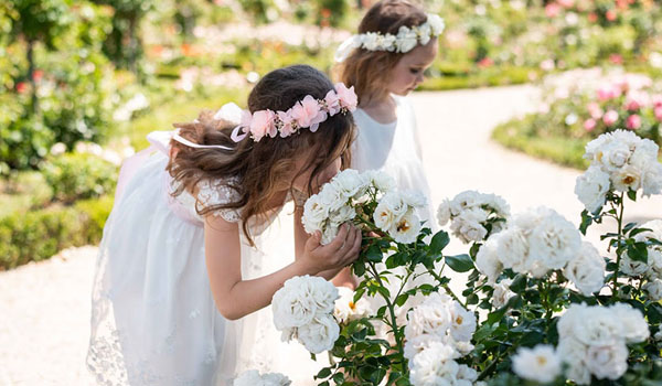
[(367, 32), (352, 35), (345, 40), (335, 51), (335, 62), (343, 62), (355, 49), (367, 51), (388, 51), (397, 53), (407, 53), (416, 44), (427, 44), (430, 39), (436, 37), (444, 32), (444, 19), (438, 14), (428, 14), (425, 23), (420, 25), (402, 25), (397, 35), (381, 34), (378, 32)]

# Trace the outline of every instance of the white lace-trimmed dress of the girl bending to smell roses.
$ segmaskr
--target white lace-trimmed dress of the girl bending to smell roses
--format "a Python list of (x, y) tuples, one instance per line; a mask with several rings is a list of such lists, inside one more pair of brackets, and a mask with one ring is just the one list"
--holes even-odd
[[(241, 372), (268, 371), (277, 360), (271, 345), (278, 342), (266, 331), (273, 325), (269, 310), (228, 321), (214, 304), (195, 199), (169, 194), (169, 132), (150, 135), (152, 147), (122, 167), (104, 228), (87, 354), (99, 385), (229, 385)], [(233, 200), (223, 184), (199, 187), (202, 204)], [(235, 211), (214, 215), (239, 222)], [(257, 248), (242, 237), (244, 279), (266, 275), (265, 266), (274, 266), (265, 264), (260, 235), (277, 215), (266, 224), (250, 224)]]

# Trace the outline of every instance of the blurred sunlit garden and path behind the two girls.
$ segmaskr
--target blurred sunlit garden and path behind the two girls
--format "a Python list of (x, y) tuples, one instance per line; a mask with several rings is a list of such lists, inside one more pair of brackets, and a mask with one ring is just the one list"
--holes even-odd
[[(244, 106), (277, 67), (331, 75), (371, 3), (0, 0), (0, 385), (87, 384), (96, 249), (71, 247), (99, 242), (119, 164), (145, 136)], [(587, 141), (627, 128), (662, 143), (662, 0), (423, 4), (447, 24), (414, 96), (435, 204), (472, 187), (542, 204), (526, 190), (542, 175), (576, 221), (580, 205), (566, 203)], [(481, 156), (448, 171), (462, 149)], [(499, 185), (487, 165), (522, 184)]]

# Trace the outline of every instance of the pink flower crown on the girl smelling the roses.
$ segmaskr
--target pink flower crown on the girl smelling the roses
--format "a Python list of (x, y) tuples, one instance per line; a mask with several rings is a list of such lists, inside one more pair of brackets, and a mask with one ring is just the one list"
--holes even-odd
[(275, 138), (280, 135), (286, 138), (306, 128), (316, 132), (327, 118), (339, 112), (354, 111), (357, 103), (354, 86), (348, 88), (344, 84), (337, 83), (334, 88), (327, 93), (324, 99), (307, 95), (287, 111), (267, 109), (250, 114), (243, 110), (242, 121), (232, 132), (233, 141), (239, 142), (248, 135), (256, 142), (266, 136)]

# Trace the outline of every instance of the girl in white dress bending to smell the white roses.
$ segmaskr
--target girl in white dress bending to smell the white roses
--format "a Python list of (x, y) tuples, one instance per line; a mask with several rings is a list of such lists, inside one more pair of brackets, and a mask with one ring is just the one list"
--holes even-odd
[(355, 104), (342, 84), (291, 66), (255, 86), (249, 111), (226, 105), (148, 137), (122, 167), (100, 244), (87, 356), (98, 384), (228, 385), (264, 349), (244, 317), (287, 279), (331, 279), (357, 257), (360, 230), (345, 225), (322, 247), (297, 206), (296, 260), (253, 277), (269, 253), (260, 234), (288, 197), (348, 162)]

